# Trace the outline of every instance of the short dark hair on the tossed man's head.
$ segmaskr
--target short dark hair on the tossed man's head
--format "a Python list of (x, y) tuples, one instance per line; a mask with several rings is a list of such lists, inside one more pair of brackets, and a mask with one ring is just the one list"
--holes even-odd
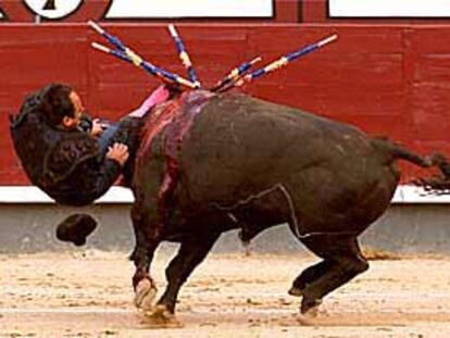
[(42, 89), (41, 108), (49, 125), (58, 126), (64, 116), (75, 116), (75, 107), (70, 98), (72, 91), (72, 87), (65, 84), (50, 84)]

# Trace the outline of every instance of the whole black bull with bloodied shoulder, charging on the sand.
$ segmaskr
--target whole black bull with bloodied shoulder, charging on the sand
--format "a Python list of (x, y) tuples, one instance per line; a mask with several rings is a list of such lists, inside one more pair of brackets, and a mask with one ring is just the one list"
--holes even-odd
[(420, 184), (449, 187), (443, 157), (422, 158), (292, 108), (201, 90), (157, 107), (143, 127), (133, 173), (136, 304), (151, 308), (150, 263), (162, 240), (180, 242), (153, 309), (155, 316), (167, 317), (182, 285), (222, 233), (240, 228), (249, 241), (287, 223), (322, 258), (289, 291), (302, 296), (303, 313), (312, 310), (367, 270), (358, 236), (389, 206), (399, 159), (438, 166), (443, 175)]

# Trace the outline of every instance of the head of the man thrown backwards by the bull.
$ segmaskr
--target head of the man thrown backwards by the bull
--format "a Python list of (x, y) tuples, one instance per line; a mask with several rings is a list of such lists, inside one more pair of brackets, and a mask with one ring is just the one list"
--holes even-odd
[(51, 126), (67, 130), (78, 127), (85, 111), (79, 96), (64, 84), (51, 84), (43, 88), (42, 108)]

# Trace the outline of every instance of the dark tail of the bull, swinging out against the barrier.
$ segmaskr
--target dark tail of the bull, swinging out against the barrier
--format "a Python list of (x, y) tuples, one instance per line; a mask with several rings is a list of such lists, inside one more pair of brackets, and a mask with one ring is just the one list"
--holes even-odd
[(384, 138), (374, 138), (372, 145), (384, 154), (387, 164), (390, 164), (396, 160), (405, 160), (425, 168), (437, 167), (440, 175), (415, 178), (412, 183), (433, 193), (450, 193), (450, 163), (441, 153), (421, 157), (411, 150)]

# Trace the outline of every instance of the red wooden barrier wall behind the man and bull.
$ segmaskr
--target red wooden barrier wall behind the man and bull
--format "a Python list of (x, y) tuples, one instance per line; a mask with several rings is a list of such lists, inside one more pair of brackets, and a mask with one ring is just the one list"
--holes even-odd
[[(108, 24), (158, 65), (184, 74), (165, 24)], [(179, 24), (204, 84), (259, 54), (266, 62), (333, 33), (339, 39), (246, 90), (353, 123), (426, 152), (450, 155), (450, 25)], [(72, 84), (91, 114), (116, 118), (157, 86), (145, 72), (91, 50), (83, 24), (1, 24), (0, 184), (27, 184), (9, 137), (8, 115), (50, 82)], [(416, 174), (405, 166), (403, 177)]]

